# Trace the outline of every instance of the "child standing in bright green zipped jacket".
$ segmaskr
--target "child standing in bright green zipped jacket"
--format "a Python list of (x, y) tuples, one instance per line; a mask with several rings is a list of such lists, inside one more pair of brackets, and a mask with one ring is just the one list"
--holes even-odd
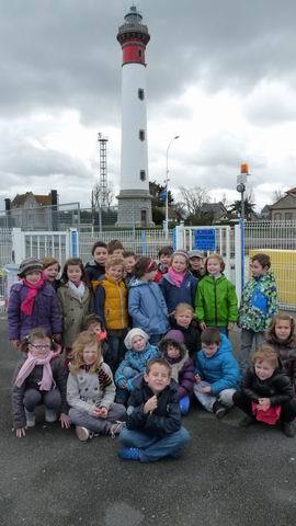
[(217, 327), (223, 334), (234, 330), (238, 319), (236, 287), (223, 274), (225, 264), (220, 254), (209, 254), (205, 260), (205, 277), (198, 283), (195, 315), (200, 328)]

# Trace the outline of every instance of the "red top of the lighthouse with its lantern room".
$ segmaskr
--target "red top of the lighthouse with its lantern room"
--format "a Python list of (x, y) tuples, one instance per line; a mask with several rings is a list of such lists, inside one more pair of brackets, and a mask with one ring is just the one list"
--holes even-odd
[(145, 64), (145, 49), (150, 41), (147, 25), (141, 23), (141, 14), (132, 5), (124, 18), (125, 23), (118, 28), (117, 41), (123, 49), (123, 66), (125, 64)]

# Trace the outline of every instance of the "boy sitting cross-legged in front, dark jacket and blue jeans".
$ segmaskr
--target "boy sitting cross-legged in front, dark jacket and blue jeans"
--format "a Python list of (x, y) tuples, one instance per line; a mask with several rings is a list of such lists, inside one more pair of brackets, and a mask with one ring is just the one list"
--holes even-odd
[(181, 426), (177, 385), (166, 359), (147, 364), (140, 386), (129, 398), (126, 427), (119, 439), (125, 447), (118, 456), (141, 462), (179, 457), (189, 442), (190, 434)]

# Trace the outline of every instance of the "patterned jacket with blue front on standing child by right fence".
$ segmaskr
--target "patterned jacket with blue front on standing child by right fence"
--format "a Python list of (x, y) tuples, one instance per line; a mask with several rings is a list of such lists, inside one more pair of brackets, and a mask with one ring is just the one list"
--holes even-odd
[(271, 318), (277, 313), (277, 310), (276, 284), (273, 274), (251, 277), (242, 291), (239, 327), (263, 332), (269, 328)]

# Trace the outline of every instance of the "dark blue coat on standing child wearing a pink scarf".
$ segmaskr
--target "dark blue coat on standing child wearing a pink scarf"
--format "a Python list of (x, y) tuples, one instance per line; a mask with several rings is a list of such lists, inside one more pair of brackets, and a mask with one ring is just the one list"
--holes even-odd
[(178, 304), (190, 304), (194, 307), (197, 279), (191, 272), (186, 272), (181, 287), (177, 287), (171, 282), (169, 274), (164, 274), (159, 285), (166, 299), (169, 315), (174, 311)]

